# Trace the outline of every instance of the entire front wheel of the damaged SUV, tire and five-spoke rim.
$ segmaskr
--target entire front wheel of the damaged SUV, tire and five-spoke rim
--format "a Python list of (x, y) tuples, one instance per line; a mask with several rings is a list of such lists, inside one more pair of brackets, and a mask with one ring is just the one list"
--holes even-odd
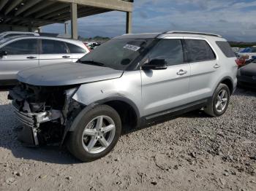
[(75, 130), (69, 134), (67, 149), (79, 160), (90, 162), (108, 155), (120, 135), (121, 119), (116, 110), (107, 105), (95, 106), (78, 119)]

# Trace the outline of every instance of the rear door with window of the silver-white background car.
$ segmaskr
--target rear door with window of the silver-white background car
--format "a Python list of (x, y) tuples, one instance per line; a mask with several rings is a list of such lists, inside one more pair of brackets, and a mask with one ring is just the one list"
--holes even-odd
[(40, 40), (39, 65), (44, 66), (53, 63), (71, 62), (72, 54), (65, 42), (53, 39)]

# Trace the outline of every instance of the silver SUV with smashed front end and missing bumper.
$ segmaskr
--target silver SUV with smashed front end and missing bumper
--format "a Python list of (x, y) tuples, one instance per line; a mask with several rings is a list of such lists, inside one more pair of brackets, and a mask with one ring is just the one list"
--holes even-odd
[(9, 98), (24, 128), (19, 139), (59, 141), (83, 161), (116, 145), (121, 129), (195, 109), (225, 113), (236, 88), (235, 55), (215, 34), (127, 34), (81, 58), (18, 73)]

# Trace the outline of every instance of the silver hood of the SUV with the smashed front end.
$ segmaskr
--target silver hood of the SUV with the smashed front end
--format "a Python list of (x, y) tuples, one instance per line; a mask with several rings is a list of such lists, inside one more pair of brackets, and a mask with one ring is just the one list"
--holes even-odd
[(29, 85), (61, 86), (121, 77), (123, 71), (82, 63), (57, 63), (19, 71), (17, 79)]

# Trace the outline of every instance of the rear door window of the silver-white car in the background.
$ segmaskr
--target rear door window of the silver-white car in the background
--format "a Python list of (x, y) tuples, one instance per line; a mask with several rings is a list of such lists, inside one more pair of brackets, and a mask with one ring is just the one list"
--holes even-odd
[(67, 54), (67, 46), (64, 42), (42, 39), (42, 54)]

